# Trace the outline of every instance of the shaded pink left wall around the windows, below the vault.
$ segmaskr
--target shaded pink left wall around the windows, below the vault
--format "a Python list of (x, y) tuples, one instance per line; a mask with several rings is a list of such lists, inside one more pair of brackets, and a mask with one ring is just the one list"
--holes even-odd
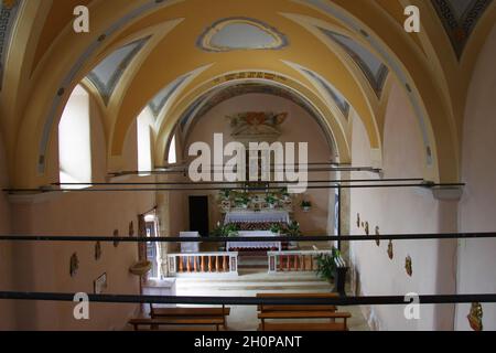
[[(104, 180), (106, 141), (99, 117), (91, 115), (91, 156), (94, 179)], [(129, 129), (123, 158), (126, 169), (136, 169), (136, 127)], [(57, 141), (53, 138), (50, 160), (57, 160)], [(57, 180), (57, 163), (50, 163), (48, 174)], [(131, 178), (129, 181), (151, 181)], [(128, 236), (133, 222), (138, 234), (138, 215), (155, 205), (153, 193), (58, 193), (31, 199), (18, 199), (12, 204), (13, 228), (20, 234), (105, 235), (118, 229)], [(108, 278), (107, 293), (137, 295), (139, 280), (129, 274), (138, 259), (137, 244), (121, 243), (116, 248), (103, 243), (103, 256), (96, 260), (95, 243), (18, 243), (13, 248), (15, 288), (23, 291), (88, 292), (94, 280), (104, 272)], [(77, 253), (79, 270), (69, 276), (69, 258)], [(73, 303), (17, 302), (17, 329), (29, 330), (121, 330), (134, 314), (134, 304), (90, 304), (90, 320), (76, 321)]]

